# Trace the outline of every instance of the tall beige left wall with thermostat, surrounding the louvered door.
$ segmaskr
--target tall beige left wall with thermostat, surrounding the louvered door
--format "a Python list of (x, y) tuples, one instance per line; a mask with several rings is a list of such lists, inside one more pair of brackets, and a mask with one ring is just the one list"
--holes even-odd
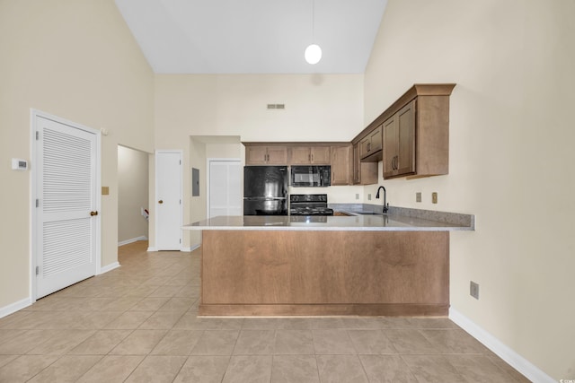
[[(102, 137), (102, 265), (117, 261), (117, 148), (153, 149), (153, 74), (113, 0), (0, 1), (0, 308), (31, 296), (30, 109)], [(33, 167), (34, 164), (31, 164)]]

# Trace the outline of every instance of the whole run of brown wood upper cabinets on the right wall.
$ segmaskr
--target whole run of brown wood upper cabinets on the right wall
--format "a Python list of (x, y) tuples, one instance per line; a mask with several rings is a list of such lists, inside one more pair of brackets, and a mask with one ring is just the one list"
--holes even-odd
[[(384, 178), (448, 174), (449, 96), (455, 86), (455, 83), (413, 85), (353, 139), (352, 143), (359, 145), (359, 161), (383, 160)], [(374, 142), (379, 142), (378, 129), (384, 148), (374, 153)], [(358, 182), (357, 170), (354, 182)], [(360, 183), (365, 185), (363, 176)]]

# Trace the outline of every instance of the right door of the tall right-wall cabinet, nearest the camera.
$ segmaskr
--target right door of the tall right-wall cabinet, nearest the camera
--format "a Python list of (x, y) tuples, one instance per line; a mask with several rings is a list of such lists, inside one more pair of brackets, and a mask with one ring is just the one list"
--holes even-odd
[(397, 112), (397, 175), (415, 173), (415, 100)]

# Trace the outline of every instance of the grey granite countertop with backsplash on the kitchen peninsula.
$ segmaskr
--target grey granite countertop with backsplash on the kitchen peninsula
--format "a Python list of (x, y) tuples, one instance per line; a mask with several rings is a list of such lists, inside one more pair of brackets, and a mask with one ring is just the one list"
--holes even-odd
[[(458, 213), (390, 208), (390, 212), (338, 210), (347, 216), (244, 215), (217, 216), (194, 222), (183, 230), (277, 230), (277, 231), (473, 231), (474, 216)], [(413, 213), (412, 211), (416, 211)], [(428, 215), (425, 214), (428, 212)], [(455, 214), (455, 216), (454, 216)]]

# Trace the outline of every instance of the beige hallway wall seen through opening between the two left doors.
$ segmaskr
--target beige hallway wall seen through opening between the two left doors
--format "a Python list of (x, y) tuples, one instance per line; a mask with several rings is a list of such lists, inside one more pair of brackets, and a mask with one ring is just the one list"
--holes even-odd
[(148, 237), (149, 154), (118, 146), (118, 242)]

